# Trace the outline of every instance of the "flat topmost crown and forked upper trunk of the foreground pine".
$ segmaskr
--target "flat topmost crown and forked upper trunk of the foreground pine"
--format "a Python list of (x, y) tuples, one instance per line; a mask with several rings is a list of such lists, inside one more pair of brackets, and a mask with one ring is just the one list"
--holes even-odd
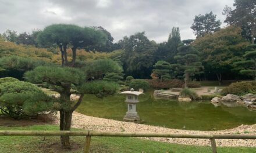
[[(62, 66), (73, 67), (76, 61), (76, 49), (89, 45), (104, 44), (104, 32), (89, 27), (79, 27), (73, 24), (52, 24), (38, 34), (38, 41), (42, 46), (59, 46), (61, 50)], [(72, 60), (68, 61), (66, 49), (72, 48)]]

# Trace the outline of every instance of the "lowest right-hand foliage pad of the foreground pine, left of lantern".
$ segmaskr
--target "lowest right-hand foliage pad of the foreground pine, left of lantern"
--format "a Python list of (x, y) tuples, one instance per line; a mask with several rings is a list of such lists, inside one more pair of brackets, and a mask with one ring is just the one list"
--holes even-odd
[(108, 81), (91, 81), (85, 83), (81, 89), (84, 93), (96, 94), (97, 97), (103, 97), (114, 94), (119, 89), (119, 85), (115, 82)]

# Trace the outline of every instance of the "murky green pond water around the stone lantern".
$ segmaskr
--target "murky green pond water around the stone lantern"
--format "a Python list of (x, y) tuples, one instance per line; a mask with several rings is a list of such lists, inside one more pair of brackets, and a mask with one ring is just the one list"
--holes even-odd
[[(86, 94), (76, 111), (99, 118), (123, 120), (127, 111), (125, 95), (104, 98)], [(241, 124), (256, 123), (256, 111), (243, 106), (215, 107), (210, 101), (179, 102), (173, 99), (155, 99), (151, 92), (138, 97), (137, 112), (140, 123), (187, 130), (223, 130)]]

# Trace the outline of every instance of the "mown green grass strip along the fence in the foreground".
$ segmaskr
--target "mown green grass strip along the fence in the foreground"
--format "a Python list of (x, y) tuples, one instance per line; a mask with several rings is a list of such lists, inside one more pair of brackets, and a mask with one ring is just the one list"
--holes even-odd
[[(58, 130), (56, 125), (0, 126), (0, 130)], [(79, 129), (73, 129), (79, 130)], [(72, 150), (63, 150), (58, 136), (0, 136), (0, 152), (83, 152), (85, 137), (71, 137)], [(90, 152), (211, 152), (211, 147), (161, 143), (133, 137), (92, 137)], [(256, 152), (256, 148), (218, 147), (218, 152)]]

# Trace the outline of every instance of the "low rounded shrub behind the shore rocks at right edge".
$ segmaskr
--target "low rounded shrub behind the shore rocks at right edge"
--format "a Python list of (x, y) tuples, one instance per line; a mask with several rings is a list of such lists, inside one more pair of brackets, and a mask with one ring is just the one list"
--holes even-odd
[(254, 92), (255, 90), (256, 86), (254, 81), (242, 81), (231, 83), (229, 86), (222, 90), (221, 94), (226, 96), (226, 94), (230, 93), (241, 96), (246, 93)]

